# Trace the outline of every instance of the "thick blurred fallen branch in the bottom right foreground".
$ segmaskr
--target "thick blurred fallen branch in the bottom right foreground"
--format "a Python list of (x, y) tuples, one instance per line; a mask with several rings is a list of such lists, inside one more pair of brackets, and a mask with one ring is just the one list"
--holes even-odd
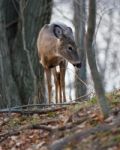
[(110, 131), (113, 127), (118, 127), (118, 126), (120, 126), (120, 119), (116, 120), (116, 122), (112, 125), (108, 125), (108, 124), (98, 125), (96, 127), (85, 130), (83, 132), (77, 132), (71, 136), (69, 135), (67, 137), (64, 137), (60, 140), (55, 141), (51, 146), (49, 146), (49, 149), (50, 150), (61, 150), (66, 145), (68, 145), (71, 141), (72, 142), (74, 142), (74, 141), (80, 142), (83, 138), (86, 138), (86, 137), (90, 136), (91, 134), (96, 134), (98, 132)]

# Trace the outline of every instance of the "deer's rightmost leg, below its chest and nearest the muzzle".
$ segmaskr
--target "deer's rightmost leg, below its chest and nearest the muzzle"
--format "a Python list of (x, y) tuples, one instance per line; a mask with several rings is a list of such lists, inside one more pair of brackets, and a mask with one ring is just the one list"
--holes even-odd
[(66, 94), (65, 94), (65, 73), (66, 73), (66, 61), (60, 64), (60, 87), (62, 93), (62, 101), (66, 102)]

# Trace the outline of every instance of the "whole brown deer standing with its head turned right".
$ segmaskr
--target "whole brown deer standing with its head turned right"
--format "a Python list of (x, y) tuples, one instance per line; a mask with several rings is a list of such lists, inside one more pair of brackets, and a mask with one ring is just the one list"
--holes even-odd
[[(81, 67), (72, 29), (64, 23), (45, 24), (37, 38), (39, 61), (42, 64), (47, 81), (48, 103), (51, 104), (52, 82), (54, 77), (56, 103), (66, 102), (65, 73), (68, 62)], [(57, 71), (56, 67), (59, 67)]]

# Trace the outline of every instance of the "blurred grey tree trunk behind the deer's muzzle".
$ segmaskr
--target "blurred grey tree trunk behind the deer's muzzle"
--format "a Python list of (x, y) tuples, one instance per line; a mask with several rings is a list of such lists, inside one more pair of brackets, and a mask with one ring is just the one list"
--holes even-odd
[[(75, 74), (75, 95), (76, 98), (81, 97), (84, 100), (86, 97), (86, 54), (84, 49), (84, 37), (85, 37), (85, 0), (74, 1), (74, 26), (75, 26), (75, 41), (77, 47), (79, 47), (78, 53), (80, 54), (80, 59), (82, 61), (82, 68), (80, 70), (76, 69)], [(83, 82), (79, 81), (80, 78)], [(82, 97), (83, 96), (83, 97)]]

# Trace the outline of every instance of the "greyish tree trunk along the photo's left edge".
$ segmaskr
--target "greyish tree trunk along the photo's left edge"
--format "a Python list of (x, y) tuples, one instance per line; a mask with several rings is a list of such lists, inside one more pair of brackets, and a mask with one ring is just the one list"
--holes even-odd
[(21, 103), (18, 88), (12, 76), (3, 1), (0, 2), (0, 108), (16, 106)]

